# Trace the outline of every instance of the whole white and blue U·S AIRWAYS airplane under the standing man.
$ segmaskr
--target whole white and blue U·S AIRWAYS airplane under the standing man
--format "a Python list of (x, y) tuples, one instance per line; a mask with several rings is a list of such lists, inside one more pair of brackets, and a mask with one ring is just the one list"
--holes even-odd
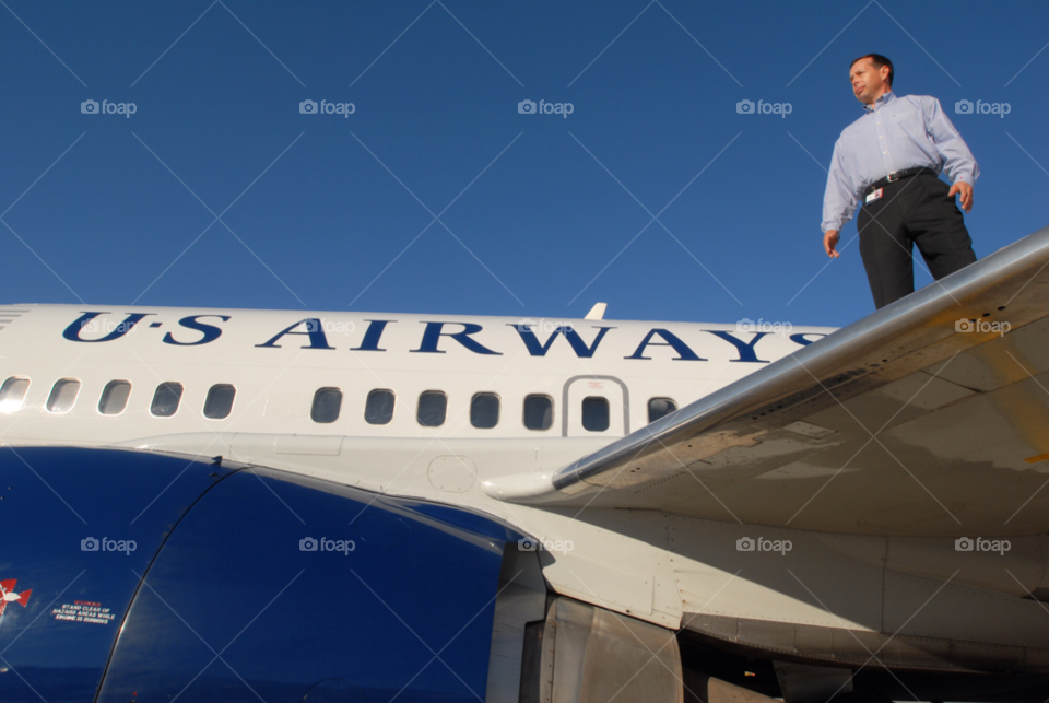
[(2, 307), (0, 700), (1044, 701), (1047, 293)]

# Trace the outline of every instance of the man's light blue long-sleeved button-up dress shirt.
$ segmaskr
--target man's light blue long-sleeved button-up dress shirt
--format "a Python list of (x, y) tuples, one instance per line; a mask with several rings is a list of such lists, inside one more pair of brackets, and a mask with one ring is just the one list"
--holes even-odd
[(840, 230), (868, 186), (894, 171), (927, 166), (946, 172), (954, 183), (976, 183), (980, 167), (936, 98), (888, 92), (863, 108), (867, 114), (841, 130), (834, 144), (823, 197), (824, 232)]

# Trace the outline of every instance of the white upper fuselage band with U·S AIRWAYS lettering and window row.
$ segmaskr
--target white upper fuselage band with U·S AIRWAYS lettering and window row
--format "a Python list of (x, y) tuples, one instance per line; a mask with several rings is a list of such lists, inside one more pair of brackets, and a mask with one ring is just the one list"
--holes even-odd
[[(296, 326), (302, 320), (313, 321)], [(777, 328), (758, 336), (736, 325), (114, 306), (11, 306), (0, 309), (0, 375), (30, 382), (16, 410), (0, 403), (7, 410), (0, 436), (69, 443), (193, 432), (612, 441), (648, 422), (651, 398), (683, 407), (832, 331)], [(473, 329), (468, 326), (476, 331), (457, 339)], [(558, 327), (571, 331), (558, 333)], [(685, 347), (674, 349), (653, 329)], [(752, 343), (742, 353), (736, 347)], [(49, 397), (62, 379), (80, 383), (74, 401), (49, 412)], [(126, 410), (106, 415), (99, 400), (113, 380), (129, 382), (131, 389)], [(182, 395), (174, 414), (156, 417), (152, 401), (166, 382), (180, 384)], [(226, 418), (208, 419), (204, 402), (217, 384), (235, 388), (233, 408)], [(342, 392), (334, 422), (310, 418), (320, 388)], [(375, 389), (394, 397), (386, 424), (365, 421)], [(433, 390), (447, 395), (447, 419), (422, 426), (419, 397)], [(471, 399), (479, 392), (498, 397), (493, 427), (471, 423)], [(550, 427), (524, 426), (529, 395), (551, 399)], [(608, 399), (606, 429), (584, 427), (580, 403), (588, 397)]]

